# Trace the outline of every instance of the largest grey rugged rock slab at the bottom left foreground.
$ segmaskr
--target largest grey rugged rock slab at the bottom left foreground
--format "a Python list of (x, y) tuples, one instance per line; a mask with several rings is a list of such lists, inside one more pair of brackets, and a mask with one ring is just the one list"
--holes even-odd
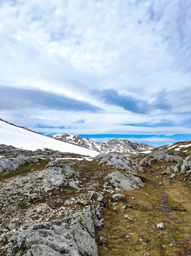
[(15, 232), (10, 241), (14, 249), (27, 250), (25, 256), (98, 256), (94, 237), (93, 215), (88, 208), (76, 216), (33, 224)]

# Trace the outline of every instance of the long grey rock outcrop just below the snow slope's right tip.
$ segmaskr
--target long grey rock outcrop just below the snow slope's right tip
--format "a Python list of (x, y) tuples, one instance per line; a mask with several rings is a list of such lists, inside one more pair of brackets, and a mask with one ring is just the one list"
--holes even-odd
[(137, 173), (138, 171), (144, 171), (142, 167), (136, 164), (131, 158), (124, 155), (115, 153), (111, 154), (99, 154), (93, 158), (93, 161), (100, 161), (99, 165), (114, 166), (119, 169), (123, 169), (130, 173)]

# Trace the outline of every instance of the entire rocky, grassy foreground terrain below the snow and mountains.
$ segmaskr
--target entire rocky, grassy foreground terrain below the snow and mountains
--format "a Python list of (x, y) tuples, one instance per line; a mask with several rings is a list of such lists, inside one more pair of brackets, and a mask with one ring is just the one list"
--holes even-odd
[(189, 153), (0, 154), (0, 255), (190, 255)]

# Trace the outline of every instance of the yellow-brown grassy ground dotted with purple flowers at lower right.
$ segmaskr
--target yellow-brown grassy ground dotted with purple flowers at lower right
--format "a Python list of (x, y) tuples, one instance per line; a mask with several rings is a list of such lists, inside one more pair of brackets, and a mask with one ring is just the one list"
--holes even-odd
[[(163, 166), (167, 165), (161, 163)], [(158, 166), (158, 165), (155, 165)], [(178, 256), (187, 255), (186, 249), (191, 247), (187, 245), (185, 248), (185, 254), (183, 254), (182, 249), (184, 248), (182, 242), (190, 241), (189, 236), (191, 236), (191, 204), (190, 204), (190, 191), (188, 182), (178, 183), (182, 176), (179, 174), (178, 178), (171, 182), (168, 176), (162, 176), (159, 174), (152, 176), (154, 167), (148, 172), (148, 176), (152, 177), (159, 184), (159, 187), (153, 186), (153, 182), (147, 182), (147, 184), (140, 189), (134, 191), (123, 191), (125, 195), (125, 200), (118, 203), (117, 206), (112, 206), (109, 204), (107, 208), (104, 209), (104, 228), (97, 232), (98, 238), (103, 236), (108, 240), (99, 243), (99, 255), (100, 256), (130, 256), (130, 255), (153, 255), (153, 256)], [(161, 170), (160, 170), (161, 172)], [(154, 171), (156, 173), (156, 171)], [(158, 177), (157, 177), (158, 176)], [(163, 195), (168, 195), (168, 200), (170, 202), (161, 202)], [(135, 197), (132, 199), (131, 197)], [(168, 219), (168, 216), (163, 213), (160, 208), (161, 205), (177, 205), (181, 203), (182, 207), (187, 209), (182, 214), (182, 211), (174, 211), (169, 208), (169, 214), (172, 218)], [(133, 205), (133, 209), (122, 209), (121, 206), (125, 204)], [(153, 206), (157, 205), (158, 208), (155, 209)], [(116, 207), (114, 210), (113, 208)], [(133, 220), (127, 220), (123, 217), (124, 214), (128, 214)], [(152, 214), (152, 215), (151, 215)], [(154, 216), (153, 216), (154, 215)], [(184, 219), (186, 221), (184, 221)], [(176, 220), (177, 222), (174, 222)], [(145, 224), (145, 221), (148, 223)], [(180, 221), (180, 224), (179, 224)], [(156, 229), (157, 223), (164, 223), (164, 230)], [(173, 224), (172, 224), (173, 223)], [(173, 225), (175, 228), (173, 229)], [(128, 228), (129, 226), (129, 228)], [(180, 229), (180, 231), (179, 231)], [(164, 231), (161, 235), (161, 231)], [(130, 235), (133, 233), (133, 235)], [(168, 235), (172, 236), (172, 238)], [(130, 235), (130, 237), (125, 238), (125, 236)], [(187, 240), (183, 239), (187, 237)], [(139, 239), (147, 239), (147, 242), (141, 242)], [(173, 240), (171, 240), (173, 239)], [(174, 246), (174, 242), (177, 246)], [(178, 243), (180, 241), (180, 244)], [(154, 244), (153, 244), (154, 243)], [(170, 244), (173, 244), (171, 247)], [(105, 246), (103, 246), (103, 244)], [(162, 247), (165, 246), (165, 248)], [(108, 248), (105, 249), (104, 247)]]

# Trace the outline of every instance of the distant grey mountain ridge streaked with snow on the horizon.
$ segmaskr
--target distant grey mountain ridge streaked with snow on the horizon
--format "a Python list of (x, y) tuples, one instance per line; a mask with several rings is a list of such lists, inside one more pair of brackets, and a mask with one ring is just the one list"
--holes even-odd
[(100, 153), (108, 153), (108, 152), (123, 153), (123, 152), (134, 152), (134, 151), (145, 151), (145, 150), (150, 150), (154, 148), (145, 143), (131, 142), (129, 140), (122, 139), (122, 138), (110, 139), (104, 142), (95, 142), (90, 139), (86, 139), (80, 136), (71, 135), (67, 133), (50, 135), (49, 137), (55, 140), (78, 145), (83, 148), (95, 150)]

